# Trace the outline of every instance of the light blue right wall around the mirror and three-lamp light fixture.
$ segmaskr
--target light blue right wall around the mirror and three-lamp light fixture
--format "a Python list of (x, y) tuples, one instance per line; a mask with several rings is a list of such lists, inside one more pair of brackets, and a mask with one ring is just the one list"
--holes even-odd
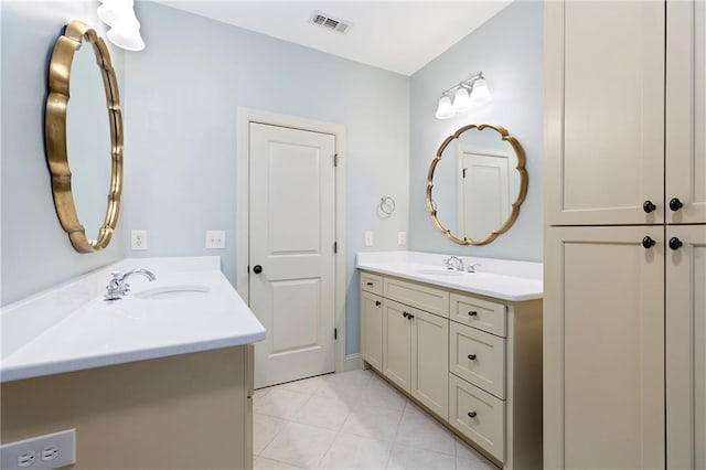
[[(516, 1), (435, 58), (410, 81), (409, 247), (414, 250), (542, 260), (543, 7)], [(434, 117), (441, 92), (482, 71), (493, 100), (448, 120)], [(509, 232), (486, 246), (460, 246), (431, 224), (426, 178), (439, 146), (459, 127), (496, 124), (525, 150), (527, 197)]]

